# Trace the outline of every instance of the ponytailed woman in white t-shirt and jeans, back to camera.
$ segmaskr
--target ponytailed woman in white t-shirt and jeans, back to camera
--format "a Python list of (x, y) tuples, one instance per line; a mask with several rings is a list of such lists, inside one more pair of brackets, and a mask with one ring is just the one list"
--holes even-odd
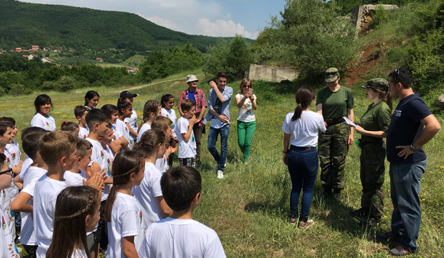
[[(290, 224), (296, 224), (298, 203), (302, 189), (302, 204), (299, 215), (299, 228), (307, 228), (313, 224), (308, 219), (311, 199), (313, 199), (314, 182), (318, 174), (318, 130), (325, 132), (322, 115), (310, 111), (311, 102), (315, 99), (310, 86), (302, 86), (296, 92), (296, 109), (285, 117), (284, 131), (284, 163), (288, 166), (291, 177), (290, 193)], [(290, 148), (289, 145), (291, 144)]]

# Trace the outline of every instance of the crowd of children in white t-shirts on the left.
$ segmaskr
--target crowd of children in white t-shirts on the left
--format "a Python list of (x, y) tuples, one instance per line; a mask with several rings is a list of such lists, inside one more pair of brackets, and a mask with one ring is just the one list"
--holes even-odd
[[(172, 95), (146, 101), (137, 126), (136, 96), (124, 91), (117, 106), (98, 109), (98, 93), (87, 92), (78, 123), (55, 131), (51, 99), (39, 95), (32, 127), (21, 132), (25, 161), (14, 119), (0, 118), (1, 257), (19, 257), (15, 212), (28, 257), (99, 257), (101, 249), (106, 257), (225, 257), (217, 233), (192, 219), (201, 191), (195, 103), (182, 102), (176, 124)], [(176, 143), (181, 166), (171, 168)]]

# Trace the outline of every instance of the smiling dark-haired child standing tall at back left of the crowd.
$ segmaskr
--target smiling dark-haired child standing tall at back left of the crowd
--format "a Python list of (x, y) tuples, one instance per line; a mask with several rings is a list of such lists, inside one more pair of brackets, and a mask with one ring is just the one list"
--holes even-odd
[(51, 98), (46, 94), (41, 94), (35, 98), (35, 115), (32, 117), (31, 126), (44, 128), (47, 131), (55, 131), (55, 120), (49, 115), (52, 109)]

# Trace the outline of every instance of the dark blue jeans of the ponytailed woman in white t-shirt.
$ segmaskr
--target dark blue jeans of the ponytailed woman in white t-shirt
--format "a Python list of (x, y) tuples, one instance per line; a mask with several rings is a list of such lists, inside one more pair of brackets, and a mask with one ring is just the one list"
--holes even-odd
[(313, 199), (314, 182), (318, 174), (318, 150), (311, 147), (291, 146), (287, 159), (293, 187), (290, 193), (290, 214), (298, 215), (300, 190), (302, 189), (302, 204), (300, 208), (300, 221), (307, 222), (310, 213), (311, 199)]

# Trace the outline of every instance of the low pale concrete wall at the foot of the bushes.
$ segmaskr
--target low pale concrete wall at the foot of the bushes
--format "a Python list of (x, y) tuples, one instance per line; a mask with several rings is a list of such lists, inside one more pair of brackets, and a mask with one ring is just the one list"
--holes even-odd
[(280, 68), (251, 63), (249, 70), (247, 70), (247, 78), (251, 80), (280, 82), (284, 80), (293, 81), (293, 79), (296, 79), (297, 77), (298, 72), (291, 68)]

